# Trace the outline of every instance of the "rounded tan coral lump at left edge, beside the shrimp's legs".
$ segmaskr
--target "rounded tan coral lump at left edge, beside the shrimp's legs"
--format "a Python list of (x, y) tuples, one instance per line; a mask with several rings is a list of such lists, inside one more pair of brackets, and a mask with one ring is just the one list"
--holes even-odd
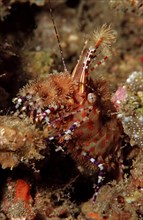
[[(20, 129), (19, 129), (20, 128)], [(30, 163), (42, 159), (40, 151), (45, 143), (42, 134), (28, 122), (15, 116), (0, 117), (0, 164), (2, 168), (13, 168), (20, 162)]]

